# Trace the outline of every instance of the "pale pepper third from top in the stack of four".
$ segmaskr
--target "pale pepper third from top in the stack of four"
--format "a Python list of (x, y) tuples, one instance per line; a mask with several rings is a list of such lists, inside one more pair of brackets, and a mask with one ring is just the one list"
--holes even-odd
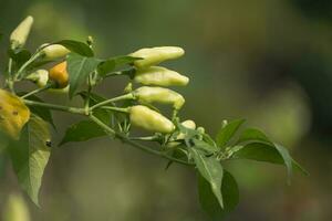
[(180, 109), (185, 104), (183, 95), (164, 87), (142, 86), (133, 94), (141, 103), (172, 104), (175, 109)]

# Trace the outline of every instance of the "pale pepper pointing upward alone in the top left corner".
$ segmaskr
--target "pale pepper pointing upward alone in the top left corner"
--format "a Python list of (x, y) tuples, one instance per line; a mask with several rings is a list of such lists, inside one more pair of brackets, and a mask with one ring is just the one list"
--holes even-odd
[(19, 49), (24, 46), (29, 36), (33, 18), (27, 17), (10, 34), (11, 49)]

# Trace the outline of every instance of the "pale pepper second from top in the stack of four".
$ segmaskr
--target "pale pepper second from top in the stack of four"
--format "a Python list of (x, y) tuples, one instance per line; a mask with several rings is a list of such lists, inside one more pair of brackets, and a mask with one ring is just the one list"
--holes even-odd
[(137, 70), (134, 81), (144, 85), (156, 86), (186, 86), (189, 83), (187, 76), (162, 66)]

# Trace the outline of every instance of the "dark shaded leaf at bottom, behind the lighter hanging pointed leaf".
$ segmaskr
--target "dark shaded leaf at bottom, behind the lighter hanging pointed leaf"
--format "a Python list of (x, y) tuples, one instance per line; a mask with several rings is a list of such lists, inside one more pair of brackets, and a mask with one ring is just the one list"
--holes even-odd
[(198, 176), (198, 196), (203, 210), (212, 221), (222, 220), (228, 213), (235, 210), (239, 203), (239, 189), (236, 179), (230, 172), (224, 170), (221, 193), (224, 209), (211, 191), (210, 185), (201, 176)]

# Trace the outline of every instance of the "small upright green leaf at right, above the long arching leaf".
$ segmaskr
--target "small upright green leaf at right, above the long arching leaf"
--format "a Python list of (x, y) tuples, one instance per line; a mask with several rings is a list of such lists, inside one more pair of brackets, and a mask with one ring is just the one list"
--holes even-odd
[(221, 127), (216, 137), (217, 145), (225, 147), (243, 123), (245, 119), (236, 119)]

